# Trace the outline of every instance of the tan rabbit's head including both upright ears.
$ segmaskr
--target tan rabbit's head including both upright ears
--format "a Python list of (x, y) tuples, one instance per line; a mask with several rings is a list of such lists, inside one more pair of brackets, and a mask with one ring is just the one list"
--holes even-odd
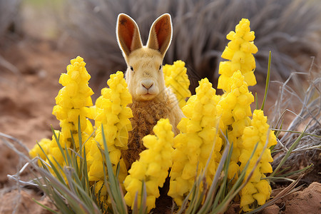
[(149, 101), (165, 89), (162, 63), (172, 39), (172, 21), (163, 14), (154, 21), (147, 45), (143, 46), (136, 22), (119, 14), (116, 34), (127, 63), (126, 83), (136, 101)]

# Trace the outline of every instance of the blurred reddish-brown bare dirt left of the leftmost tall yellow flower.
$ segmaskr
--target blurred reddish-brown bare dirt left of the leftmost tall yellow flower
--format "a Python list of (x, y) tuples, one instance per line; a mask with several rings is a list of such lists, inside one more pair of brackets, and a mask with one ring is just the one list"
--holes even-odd
[(20, 41), (4, 50), (2, 56), (10, 59), (20, 73), (1, 73), (0, 131), (31, 148), (36, 141), (51, 136), (51, 124), (58, 128), (51, 111), (61, 88), (58, 78), (72, 57), (44, 41)]

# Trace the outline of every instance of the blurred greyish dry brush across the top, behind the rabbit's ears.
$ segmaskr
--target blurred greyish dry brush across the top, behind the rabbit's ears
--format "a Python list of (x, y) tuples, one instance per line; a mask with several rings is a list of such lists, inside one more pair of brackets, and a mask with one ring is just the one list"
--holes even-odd
[[(146, 43), (152, 22), (168, 12), (174, 31), (164, 63), (185, 61), (193, 90), (204, 77), (216, 85), (225, 36), (248, 18), (259, 49), (258, 81), (265, 79), (269, 51), (273, 78), (285, 79), (292, 71), (307, 71), (311, 57), (319, 56), (320, 5), (318, 0), (0, 0), (0, 54), (21, 40), (31, 46), (49, 41), (54, 51), (83, 56), (97, 86), (126, 69), (116, 43), (118, 14), (137, 21)], [(11, 58), (5, 59), (1, 70), (15, 70)]]

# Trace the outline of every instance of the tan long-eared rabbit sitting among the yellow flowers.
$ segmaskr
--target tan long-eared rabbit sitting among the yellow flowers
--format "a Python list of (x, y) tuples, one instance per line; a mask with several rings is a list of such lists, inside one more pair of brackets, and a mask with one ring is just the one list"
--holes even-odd
[(159, 119), (168, 118), (177, 135), (177, 125), (184, 115), (175, 94), (165, 86), (162, 70), (173, 35), (170, 14), (163, 14), (153, 22), (146, 46), (142, 44), (136, 21), (126, 14), (118, 15), (116, 35), (128, 66), (125, 78), (133, 98), (133, 103), (128, 105), (133, 111), (133, 131), (129, 133), (128, 150), (122, 151), (126, 167), (130, 168), (146, 149), (141, 139), (153, 134)]

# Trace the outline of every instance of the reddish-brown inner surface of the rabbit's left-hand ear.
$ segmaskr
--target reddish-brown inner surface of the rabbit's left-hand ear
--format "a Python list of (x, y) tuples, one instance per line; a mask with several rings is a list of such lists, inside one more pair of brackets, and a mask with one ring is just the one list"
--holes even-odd
[(123, 39), (128, 51), (131, 51), (134, 30), (134, 24), (131, 22), (131, 20), (128, 20), (127, 17), (122, 17), (122, 19), (119, 20), (118, 34), (121, 35), (121, 39)]

